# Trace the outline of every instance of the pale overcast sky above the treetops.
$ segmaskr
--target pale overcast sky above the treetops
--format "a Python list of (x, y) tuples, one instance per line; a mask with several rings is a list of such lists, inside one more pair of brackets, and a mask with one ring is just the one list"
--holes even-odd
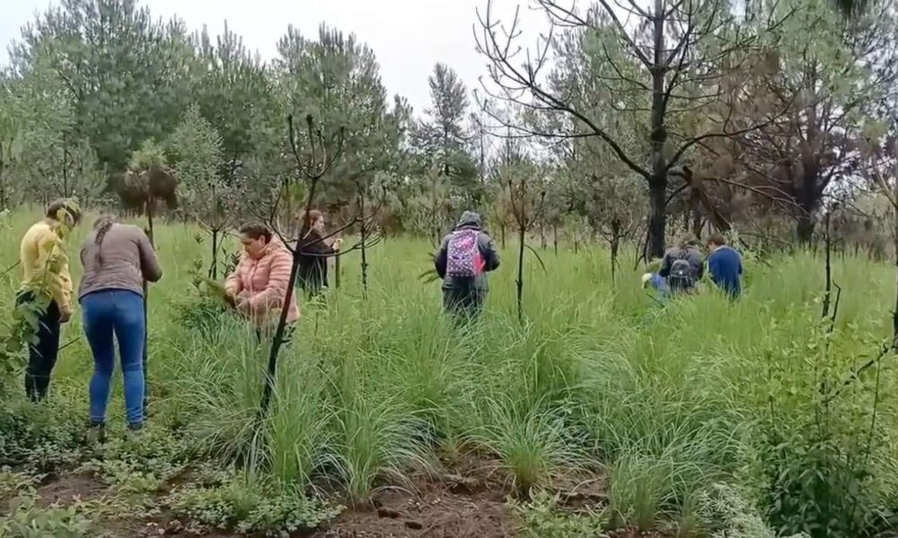
[[(51, 2), (2, 3), (0, 63), (6, 64), (5, 45)], [(487, 0), (143, 0), (141, 4), (148, 5), (155, 17), (178, 15), (190, 29), (207, 24), (213, 35), (226, 20), (247, 47), (265, 59), (275, 56), (277, 39), (290, 23), (307, 36), (317, 36), (321, 22), (353, 32), (374, 50), (387, 91), (407, 97), (417, 114), (428, 106), (427, 74), (436, 62), (452, 66), (469, 90), (479, 88), (478, 77), (486, 74), (472, 28), (476, 10), (485, 9)], [(493, 10), (510, 21), (518, 4), (523, 4), (524, 39), (532, 44), (544, 19), (527, 9), (527, 0), (493, 0)]]

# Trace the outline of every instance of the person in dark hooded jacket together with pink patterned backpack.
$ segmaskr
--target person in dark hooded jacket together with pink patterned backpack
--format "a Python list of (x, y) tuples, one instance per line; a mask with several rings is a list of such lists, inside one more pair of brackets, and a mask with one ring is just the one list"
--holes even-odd
[(434, 264), (443, 279), (446, 312), (467, 319), (477, 317), (489, 291), (487, 273), (499, 266), (496, 245), (483, 230), (478, 213), (462, 213), (455, 230), (436, 251)]

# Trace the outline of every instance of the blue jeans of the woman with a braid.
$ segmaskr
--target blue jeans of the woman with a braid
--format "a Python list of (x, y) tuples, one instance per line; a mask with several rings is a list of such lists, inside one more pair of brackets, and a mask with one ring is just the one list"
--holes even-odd
[(144, 423), (144, 298), (134, 291), (101, 290), (85, 295), (81, 308), (93, 352), (91, 422), (106, 421), (115, 369), (114, 334), (119, 340), (128, 425), (139, 427)]

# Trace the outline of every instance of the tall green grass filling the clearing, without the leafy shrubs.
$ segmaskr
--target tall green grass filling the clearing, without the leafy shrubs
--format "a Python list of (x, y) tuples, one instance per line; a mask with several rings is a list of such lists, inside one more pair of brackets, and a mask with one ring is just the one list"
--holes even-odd
[[(13, 215), (0, 265), (13, 264), (33, 216)], [(777, 463), (765, 461), (765, 436), (773, 426), (814, 424), (820, 380), (844, 378), (876, 350), (889, 334), (894, 297), (893, 268), (837, 259), (840, 316), (823, 353), (823, 270), (814, 256), (749, 265), (736, 303), (709, 291), (660, 308), (640, 289), (638, 272), (619, 273), (612, 284), (601, 248), (579, 255), (562, 248), (543, 255), (546, 270), (535, 261), (525, 267), (523, 325), (509, 265), (491, 280), (480, 323), (459, 328), (442, 316), (438, 284), (417, 279), (427, 244), (390, 239), (368, 253), (367, 301), (358, 260), (348, 256), (343, 288), (303, 305), (260, 423), (265, 350), (239, 320), (216, 319), (207, 334), (178, 321), (174, 305), (194, 300), (189, 260), (205, 256), (191, 236), (181, 225), (156, 230), (165, 277), (150, 303), (154, 420), (209, 452), (260, 461), (286, 487), (352, 502), (383, 486), (413, 487), (414, 474), (436, 473), (461, 454), (494, 464), (521, 495), (603, 473), (613, 518), (645, 529), (662, 520), (686, 525), (718, 482), (736, 483), (762, 512), (775, 512), (765, 499)], [(4, 305), (14, 286), (7, 277), (0, 288)], [(79, 332), (75, 321), (64, 341)], [(90, 370), (86, 346), (76, 343), (63, 352), (55, 384), (83, 387)], [(896, 380), (891, 365), (879, 371), (881, 391)], [(851, 442), (867, 439), (871, 423), (872, 392), (862, 381), (832, 404), (843, 412), (828, 422), (843, 456), (866, 454), (866, 443)], [(78, 396), (57, 390), (53, 397)], [(867, 512), (898, 507), (898, 482), (887, 476), (898, 468), (898, 409), (888, 397), (878, 405), (864, 457), (866, 469), (882, 471), (855, 484), (872, 493), (861, 508)], [(796, 454), (788, 457), (800, 464)]]

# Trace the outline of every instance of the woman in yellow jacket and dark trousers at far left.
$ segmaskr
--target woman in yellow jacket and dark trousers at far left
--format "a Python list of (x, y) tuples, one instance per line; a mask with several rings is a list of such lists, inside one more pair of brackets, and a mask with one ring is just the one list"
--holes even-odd
[(16, 305), (38, 315), (37, 339), (29, 344), (25, 370), (25, 394), (34, 402), (47, 396), (59, 353), (61, 324), (72, 317), (72, 277), (65, 239), (80, 220), (77, 204), (60, 200), (50, 204), (46, 218), (22, 237), (23, 281)]

